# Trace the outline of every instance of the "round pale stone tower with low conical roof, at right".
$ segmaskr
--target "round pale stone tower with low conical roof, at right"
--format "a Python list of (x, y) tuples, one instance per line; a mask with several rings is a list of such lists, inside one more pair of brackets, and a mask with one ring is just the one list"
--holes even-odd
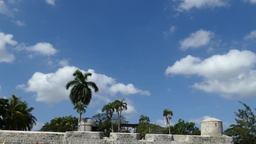
[(222, 136), (222, 121), (208, 118), (201, 122), (201, 136)]

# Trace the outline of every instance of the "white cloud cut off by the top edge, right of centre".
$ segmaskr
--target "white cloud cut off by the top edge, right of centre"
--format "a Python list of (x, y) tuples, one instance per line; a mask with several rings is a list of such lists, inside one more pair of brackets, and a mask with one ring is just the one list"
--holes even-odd
[(192, 8), (214, 8), (214, 7), (223, 7), (228, 6), (226, 0), (178, 0), (179, 7), (177, 11), (189, 11)]

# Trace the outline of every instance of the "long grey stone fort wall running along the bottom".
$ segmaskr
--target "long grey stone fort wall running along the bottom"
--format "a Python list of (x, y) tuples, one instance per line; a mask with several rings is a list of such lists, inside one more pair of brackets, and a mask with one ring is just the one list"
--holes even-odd
[(0, 131), (0, 142), (5, 144), (233, 144), (229, 136), (185, 136), (147, 134), (145, 140), (139, 133), (110, 133), (104, 137), (102, 132), (30, 132)]

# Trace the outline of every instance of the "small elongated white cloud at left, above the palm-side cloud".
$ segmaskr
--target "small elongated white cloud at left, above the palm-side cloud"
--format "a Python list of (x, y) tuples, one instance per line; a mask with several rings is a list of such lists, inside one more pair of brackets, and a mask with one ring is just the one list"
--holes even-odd
[(56, 48), (54, 48), (51, 43), (46, 43), (46, 42), (40, 42), (32, 46), (27, 46), (25, 43), (21, 43), (17, 45), (15, 49), (17, 51), (22, 51), (22, 50), (33, 51), (35, 53), (40, 53), (45, 56), (50, 56), (57, 53)]

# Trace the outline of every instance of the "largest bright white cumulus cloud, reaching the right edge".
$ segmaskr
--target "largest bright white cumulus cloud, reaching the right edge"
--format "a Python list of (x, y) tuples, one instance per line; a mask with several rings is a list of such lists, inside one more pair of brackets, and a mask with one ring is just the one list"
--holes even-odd
[(191, 87), (208, 93), (219, 93), (226, 99), (256, 95), (256, 54), (230, 50), (207, 59), (188, 55), (169, 66), (166, 75), (197, 75), (203, 81)]

